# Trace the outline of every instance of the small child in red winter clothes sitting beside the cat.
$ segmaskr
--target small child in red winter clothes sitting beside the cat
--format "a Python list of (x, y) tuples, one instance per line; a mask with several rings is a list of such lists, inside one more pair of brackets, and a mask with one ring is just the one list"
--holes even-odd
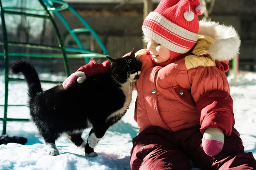
[[(234, 128), (224, 74), (239, 51), (239, 36), (232, 27), (199, 24), (204, 9), (199, 0), (161, 0), (143, 22), (148, 45), (136, 53), (143, 70), (136, 85), (140, 131), (133, 139), (132, 170), (190, 170), (189, 159), (203, 170), (256, 168)], [(90, 62), (65, 87), (108, 67)]]

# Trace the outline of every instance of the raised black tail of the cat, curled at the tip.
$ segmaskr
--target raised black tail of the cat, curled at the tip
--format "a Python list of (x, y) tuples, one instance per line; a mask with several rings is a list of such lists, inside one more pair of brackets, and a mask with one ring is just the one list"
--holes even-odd
[(35, 68), (26, 61), (17, 61), (11, 67), (11, 73), (22, 73), (29, 87), (29, 98), (34, 99), (36, 93), (43, 91)]

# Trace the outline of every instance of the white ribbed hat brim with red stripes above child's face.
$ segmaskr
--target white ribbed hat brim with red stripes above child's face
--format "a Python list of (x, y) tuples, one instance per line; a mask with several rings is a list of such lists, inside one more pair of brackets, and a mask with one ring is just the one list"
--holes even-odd
[(150, 12), (145, 18), (143, 27), (145, 37), (152, 38), (171, 51), (184, 54), (198, 40), (198, 34), (186, 30), (157, 12)]

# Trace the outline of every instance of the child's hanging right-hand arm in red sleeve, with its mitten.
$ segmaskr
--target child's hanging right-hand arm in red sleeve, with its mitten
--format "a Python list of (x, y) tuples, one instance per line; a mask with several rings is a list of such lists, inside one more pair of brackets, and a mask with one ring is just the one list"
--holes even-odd
[(221, 152), (224, 134), (230, 136), (235, 124), (233, 99), (225, 74), (217, 67), (192, 68), (191, 94), (200, 116), (203, 147), (209, 156)]

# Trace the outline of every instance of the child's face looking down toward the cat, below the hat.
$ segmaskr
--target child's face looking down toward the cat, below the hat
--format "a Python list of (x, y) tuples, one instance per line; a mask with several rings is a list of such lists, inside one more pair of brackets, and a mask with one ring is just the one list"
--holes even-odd
[(170, 50), (163, 45), (155, 42), (153, 39), (148, 40), (147, 48), (157, 63), (166, 62), (171, 57)]

